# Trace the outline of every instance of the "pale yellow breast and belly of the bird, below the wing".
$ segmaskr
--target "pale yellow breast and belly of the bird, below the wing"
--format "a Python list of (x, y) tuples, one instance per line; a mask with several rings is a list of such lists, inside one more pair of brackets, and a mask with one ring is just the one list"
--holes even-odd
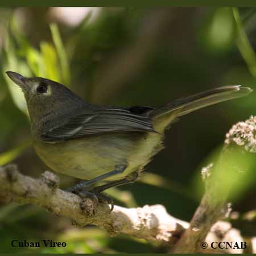
[(156, 133), (113, 133), (72, 139), (61, 143), (35, 141), (37, 154), (53, 171), (89, 180), (114, 170), (117, 164), (127, 169), (106, 180), (119, 180), (142, 170), (161, 146)]

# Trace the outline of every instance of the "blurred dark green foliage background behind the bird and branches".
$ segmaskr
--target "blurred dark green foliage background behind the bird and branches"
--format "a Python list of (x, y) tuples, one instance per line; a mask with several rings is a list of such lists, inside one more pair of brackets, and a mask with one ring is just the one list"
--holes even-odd
[[(94, 104), (160, 106), (216, 86), (255, 89), (256, 15), (250, 8), (0, 9), (0, 165), (18, 164), (39, 177), (47, 167), (31, 147), (26, 104), (5, 72), (62, 82)], [(204, 189), (200, 170), (216, 155), (230, 127), (255, 114), (256, 93), (183, 117), (166, 133), (166, 148), (142, 179), (109, 189), (126, 207), (163, 204), (189, 221)], [(256, 160), (231, 193), (233, 222), (244, 236), (256, 234)], [(221, 176), (221, 175), (220, 175)], [(225, 185), (229, 177), (223, 175)], [(61, 187), (77, 182), (61, 176)], [(234, 190), (236, 190), (234, 188)], [(249, 217), (248, 217), (249, 216)], [(0, 252), (166, 252), (158, 243), (103, 230), (76, 228), (34, 205), (0, 205)], [(20, 249), (11, 240), (67, 242), (67, 247)]]

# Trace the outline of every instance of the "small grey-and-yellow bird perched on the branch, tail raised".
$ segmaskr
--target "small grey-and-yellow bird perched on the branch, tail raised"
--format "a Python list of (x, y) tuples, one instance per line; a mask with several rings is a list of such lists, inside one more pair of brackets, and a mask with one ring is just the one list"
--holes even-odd
[(179, 98), (162, 108), (122, 108), (89, 104), (55, 81), (6, 73), (26, 98), (37, 154), (53, 171), (86, 180), (69, 191), (97, 197), (105, 189), (133, 183), (162, 150), (164, 131), (175, 119), (252, 92), (231, 85)]

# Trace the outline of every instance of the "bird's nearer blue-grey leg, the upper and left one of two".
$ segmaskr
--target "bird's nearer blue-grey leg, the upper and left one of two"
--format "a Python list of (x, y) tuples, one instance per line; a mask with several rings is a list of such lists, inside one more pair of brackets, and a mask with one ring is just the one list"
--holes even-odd
[(91, 185), (97, 183), (98, 181), (104, 180), (108, 177), (111, 177), (113, 175), (121, 174), (123, 171), (125, 171), (126, 168), (127, 168), (126, 164), (117, 164), (115, 166), (115, 170), (108, 172), (107, 174), (102, 174), (98, 177), (94, 177), (91, 180), (83, 181), (79, 184), (76, 184), (72, 188), (68, 188), (66, 191), (72, 192), (72, 193), (79, 193), (80, 191), (86, 191), (86, 189)]

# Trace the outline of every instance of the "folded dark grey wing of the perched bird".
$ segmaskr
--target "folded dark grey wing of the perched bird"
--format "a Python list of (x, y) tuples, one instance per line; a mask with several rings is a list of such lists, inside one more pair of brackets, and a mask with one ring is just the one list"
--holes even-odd
[(105, 108), (84, 109), (68, 121), (55, 126), (41, 135), (49, 143), (57, 143), (87, 135), (97, 135), (121, 131), (152, 131), (151, 118), (132, 109)]

